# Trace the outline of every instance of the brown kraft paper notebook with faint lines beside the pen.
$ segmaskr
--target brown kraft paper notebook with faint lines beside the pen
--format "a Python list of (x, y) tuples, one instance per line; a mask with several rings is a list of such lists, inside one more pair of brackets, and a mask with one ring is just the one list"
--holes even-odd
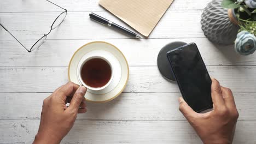
[(173, 0), (100, 0), (99, 4), (148, 37)]

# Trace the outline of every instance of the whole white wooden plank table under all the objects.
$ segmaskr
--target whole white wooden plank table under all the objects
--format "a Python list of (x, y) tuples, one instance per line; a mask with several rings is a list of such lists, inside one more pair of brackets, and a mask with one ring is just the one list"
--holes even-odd
[[(125, 27), (93, 0), (53, 0), (68, 10), (38, 51), (28, 53), (0, 28), (0, 143), (31, 143), (43, 99), (68, 81), (74, 51), (95, 40), (117, 46), (130, 65), (124, 92), (104, 104), (88, 103), (62, 143), (201, 143), (178, 110), (176, 83), (156, 67), (161, 47), (172, 41), (195, 42), (208, 71), (232, 89), (240, 117), (234, 143), (256, 143), (256, 54), (237, 55), (201, 31), (202, 9), (210, 0), (175, 0), (148, 39), (131, 39), (89, 19), (94, 11)], [(62, 9), (46, 1), (0, 0), (0, 22), (27, 47), (49, 31)], [(129, 27), (128, 27), (129, 28)]]

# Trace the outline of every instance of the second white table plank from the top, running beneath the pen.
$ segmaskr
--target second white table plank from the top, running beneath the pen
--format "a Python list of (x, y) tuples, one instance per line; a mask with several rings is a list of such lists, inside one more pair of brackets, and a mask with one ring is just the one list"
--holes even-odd
[[(49, 34), (48, 39), (127, 39), (129, 36), (117, 32), (108, 26), (92, 21), (90, 12), (69, 12), (60, 27)], [(201, 30), (200, 10), (170, 10), (159, 21), (149, 38), (204, 38)], [(50, 31), (50, 26), (60, 12), (51, 13), (0, 13), (0, 22), (19, 40), (38, 40)], [(107, 11), (98, 15), (128, 29), (127, 25)], [(0, 40), (13, 40), (3, 28)]]

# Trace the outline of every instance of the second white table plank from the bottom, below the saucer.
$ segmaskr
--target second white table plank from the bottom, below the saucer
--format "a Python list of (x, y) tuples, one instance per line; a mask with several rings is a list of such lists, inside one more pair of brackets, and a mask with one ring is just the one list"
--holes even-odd
[[(1, 93), (0, 119), (40, 119), (43, 100), (51, 93)], [(181, 93), (122, 93), (108, 103), (87, 103), (88, 112), (78, 120), (180, 121)], [(255, 93), (234, 93), (239, 120), (256, 120)]]

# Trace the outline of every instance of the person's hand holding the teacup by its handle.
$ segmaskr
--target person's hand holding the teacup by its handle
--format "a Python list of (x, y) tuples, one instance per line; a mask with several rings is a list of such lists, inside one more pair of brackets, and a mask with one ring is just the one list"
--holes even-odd
[[(87, 111), (86, 88), (68, 82), (43, 101), (41, 121), (33, 143), (60, 143), (74, 125), (77, 113)], [(70, 103), (67, 107), (66, 104)]]

